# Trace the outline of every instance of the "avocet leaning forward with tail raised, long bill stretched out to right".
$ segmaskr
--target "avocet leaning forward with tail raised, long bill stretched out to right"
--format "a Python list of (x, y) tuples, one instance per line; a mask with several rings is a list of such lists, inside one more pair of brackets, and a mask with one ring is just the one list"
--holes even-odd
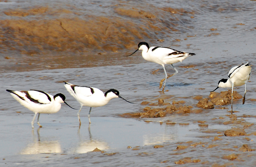
[[(77, 86), (70, 84), (68, 82), (64, 82), (65, 87), (68, 92), (80, 103), (81, 108), (77, 113), (79, 124), (81, 125), (80, 121), (80, 111), (83, 106), (91, 107), (88, 118), (89, 123), (91, 123), (90, 114), (92, 107), (100, 107), (106, 105), (111, 99), (113, 98), (121, 98), (125, 100), (123, 97), (119, 95), (118, 90), (110, 89), (107, 92), (103, 93), (101, 90), (95, 87), (87, 87), (87, 86)], [(125, 100), (127, 101), (127, 100)], [(128, 101), (127, 101), (128, 102)], [(132, 102), (129, 102), (132, 103)]]

